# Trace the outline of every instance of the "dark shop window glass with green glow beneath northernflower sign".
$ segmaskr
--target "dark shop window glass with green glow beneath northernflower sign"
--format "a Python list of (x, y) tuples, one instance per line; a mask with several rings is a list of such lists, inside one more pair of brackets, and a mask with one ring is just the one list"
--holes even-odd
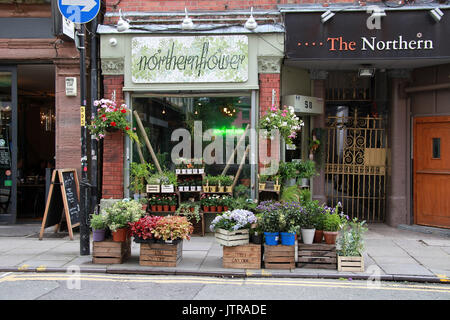
[[(134, 97), (132, 106), (133, 110), (139, 114), (162, 169), (169, 171), (175, 170), (171, 152), (180, 142), (171, 141), (172, 133), (176, 129), (186, 129), (192, 137), (190, 158), (196, 158), (193, 142), (194, 122), (200, 121), (202, 132), (211, 130), (210, 132), (214, 136), (212, 140), (202, 142), (203, 152), (208, 150), (207, 146), (217, 137), (223, 140), (222, 155), (216, 154), (219, 150), (211, 152), (211, 155), (216, 157), (217, 163), (205, 163), (206, 174), (219, 175), (226, 165), (229, 154), (231, 154), (230, 151), (234, 150), (239, 137), (245, 131), (246, 126), (250, 124), (250, 95)], [(142, 133), (139, 130), (137, 132), (140, 141), (144, 141)], [(248, 145), (248, 139), (247, 137), (242, 146)], [(138, 162), (139, 155), (136, 148), (137, 146), (134, 145), (132, 159)], [(145, 145), (141, 148), (145, 161), (152, 162), (149, 150)], [(234, 159), (227, 171), (228, 175), (235, 175), (238, 170), (237, 157)], [(239, 184), (250, 185), (248, 157), (241, 171)]]

